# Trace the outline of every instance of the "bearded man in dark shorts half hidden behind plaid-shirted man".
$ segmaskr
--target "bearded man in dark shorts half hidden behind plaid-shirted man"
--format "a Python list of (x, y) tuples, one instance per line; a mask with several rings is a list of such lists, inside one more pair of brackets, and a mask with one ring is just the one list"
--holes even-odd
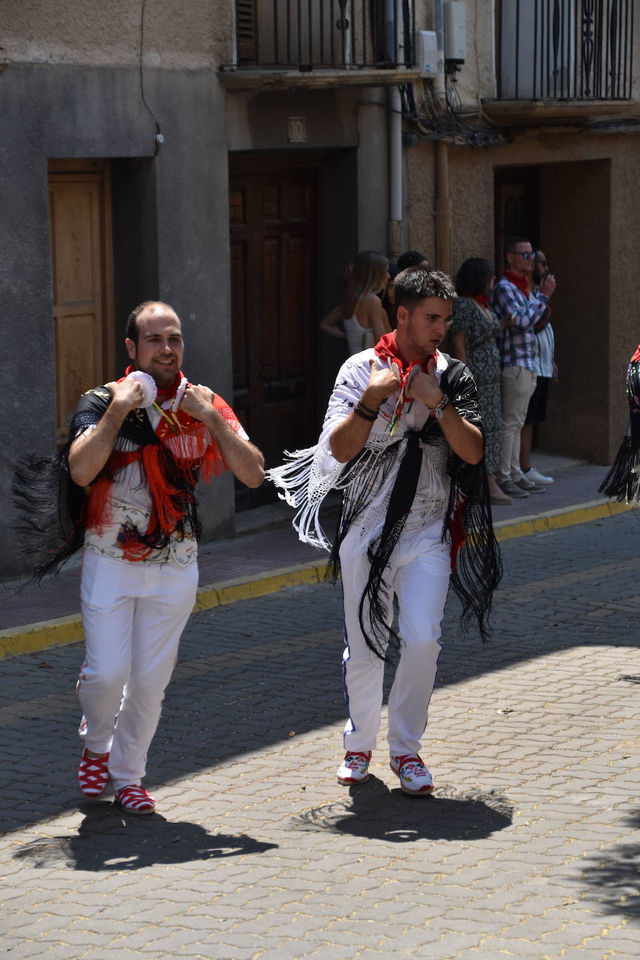
[[(533, 293), (537, 294), (543, 278), (549, 274), (547, 258), (541, 250), (535, 252), (533, 261)], [(557, 366), (554, 360), (556, 338), (551, 325), (551, 307), (534, 325), (535, 332), (535, 390), (529, 401), (525, 425), (520, 434), (520, 468), (528, 480), (546, 487), (554, 482), (553, 477), (545, 476), (532, 467), (533, 424), (542, 423), (547, 417), (549, 384), (557, 379)]]

